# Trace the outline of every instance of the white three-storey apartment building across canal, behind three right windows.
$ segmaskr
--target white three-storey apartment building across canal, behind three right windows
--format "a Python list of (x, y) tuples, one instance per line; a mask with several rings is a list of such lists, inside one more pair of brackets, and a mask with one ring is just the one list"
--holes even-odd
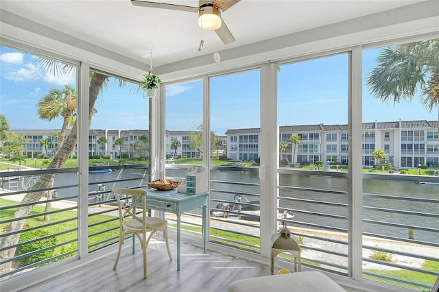
[[(300, 143), (290, 141), (298, 135)], [(259, 129), (226, 132), (227, 157), (254, 160), (259, 157)], [(375, 165), (375, 149), (383, 149), (385, 160), (396, 168), (434, 165), (438, 162), (438, 121), (390, 121), (363, 123), (363, 166)], [(291, 163), (348, 162), (348, 125), (285, 125), (279, 127), (279, 143), (289, 143), (279, 160)], [(293, 154), (294, 151), (294, 154)], [(285, 155), (288, 156), (285, 157)], [(293, 158), (294, 156), (294, 158)]]

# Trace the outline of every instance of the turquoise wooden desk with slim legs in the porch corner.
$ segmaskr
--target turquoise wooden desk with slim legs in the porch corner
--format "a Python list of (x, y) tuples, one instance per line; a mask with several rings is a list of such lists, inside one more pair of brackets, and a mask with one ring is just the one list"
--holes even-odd
[[(177, 271), (180, 271), (180, 217), (184, 212), (202, 207), (203, 247), (204, 253), (206, 253), (208, 196), (209, 193), (207, 192), (193, 195), (178, 193), (177, 189), (171, 191), (157, 191), (154, 188), (146, 189), (146, 208), (170, 212), (177, 216)], [(134, 253), (134, 244), (132, 246)]]

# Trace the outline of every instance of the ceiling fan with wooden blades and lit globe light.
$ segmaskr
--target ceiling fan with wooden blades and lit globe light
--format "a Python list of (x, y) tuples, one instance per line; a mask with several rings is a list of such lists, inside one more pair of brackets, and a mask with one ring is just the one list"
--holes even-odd
[(198, 25), (200, 25), (202, 29), (215, 30), (222, 42), (227, 45), (230, 42), (234, 42), (235, 38), (228, 29), (226, 23), (222, 20), (221, 12), (228, 10), (228, 8), (232, 7), (239, 1), (240, 0), (199, 0), (198, 7), (141, 0), (131, 0), (131, 3), (132, 5), (150, 8), (197, 12)]

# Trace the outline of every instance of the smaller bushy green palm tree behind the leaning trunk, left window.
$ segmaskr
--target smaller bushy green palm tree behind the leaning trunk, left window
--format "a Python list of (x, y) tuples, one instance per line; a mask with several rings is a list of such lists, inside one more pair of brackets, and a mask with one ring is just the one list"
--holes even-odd
[(51, 88), (49, 93), (43, 96), (38, 104), (38, 116), (40, 119), (53, 120), (57, 117), (62, 118), (62, 127), (58, 138), (57, 150), (60, 149), (67, 134), (68, 127), (76, 121), (76, 90), (69, 84), (64, 89)]

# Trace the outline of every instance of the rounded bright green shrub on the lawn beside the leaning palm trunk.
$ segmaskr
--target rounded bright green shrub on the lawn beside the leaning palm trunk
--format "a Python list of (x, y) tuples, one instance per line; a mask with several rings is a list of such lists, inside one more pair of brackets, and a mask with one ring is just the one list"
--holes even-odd
[[(38, 239), (43, 236), (50, 235), (50, 232), (45, 230), (29, 230), (26, 232), (23, 232), (20, 235), (19, 242), (23, 243), (25, 241), (31, 241), (32, 239)], [(20, 247), (16, 248), (16, 256), (19, 256), (21, 254), (27, 254), (29, 252), (35, 252), (37, 250), (42, 250), (46, 247), (50, 247), (53, 245), (56, 245), (58, 240), (56, 237), (49, 237), (47, 239), (42, 239), (40, 241), (34, 241), (32, 243), (27, 243), (24, 245), (21, 245)], [(33, 263), (38, 263), (41, 260), (45, 260), (47, 258), (51, 258), (54, 256), (54, 249), (51, 250), (45, 250), (44, 252), (39, 252), (38, 254), (32, 254), (31, 256), (25, 256), (24, 258), (21, 258), (19, 260), (19, 267), (24, 267), (27, 265), (31, 265)]]

